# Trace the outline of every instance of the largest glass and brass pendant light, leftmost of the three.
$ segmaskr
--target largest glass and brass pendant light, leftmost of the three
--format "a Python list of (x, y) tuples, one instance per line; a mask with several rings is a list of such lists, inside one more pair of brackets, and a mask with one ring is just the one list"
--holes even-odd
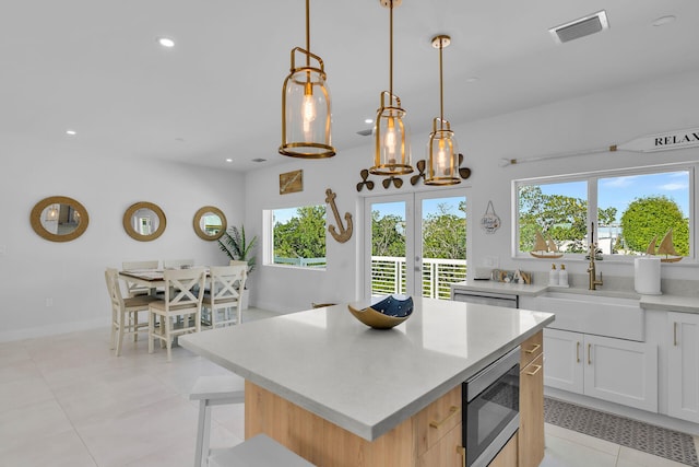
[[(306, 0), (306, 48), (292, 50), (292, 66), (282, 89), (280, 154), (300, 159), (335, 155), (330, 136), (330, 91), (323, 60), (310, 52), (310, 0)], [(296, 66), (297, 54), (303, 66)], [(303, 57), (305, 56), (305, 60)], [(312, 63), (311, 63), (312, 61)]]

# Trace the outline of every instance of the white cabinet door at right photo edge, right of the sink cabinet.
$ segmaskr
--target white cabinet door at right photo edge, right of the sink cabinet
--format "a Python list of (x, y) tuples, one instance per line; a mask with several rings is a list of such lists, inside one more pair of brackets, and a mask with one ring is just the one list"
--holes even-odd
[(699, 315), (667, 313), (667, 415), (699, 423)]

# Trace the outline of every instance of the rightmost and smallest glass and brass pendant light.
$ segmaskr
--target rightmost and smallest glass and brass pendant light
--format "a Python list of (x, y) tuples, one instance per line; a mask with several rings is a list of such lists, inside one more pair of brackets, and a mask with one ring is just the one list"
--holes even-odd
[(428, 172), (425, 185), (457, 185), (459, 177), (459, 148), (449, 121), (445, 120), (445, 90), (442, 50), (451, 44), (449, 36), (433, 38), (433, 47), (439, 49), (439, 117), (433, 120), (433, 132), (427, 143)]

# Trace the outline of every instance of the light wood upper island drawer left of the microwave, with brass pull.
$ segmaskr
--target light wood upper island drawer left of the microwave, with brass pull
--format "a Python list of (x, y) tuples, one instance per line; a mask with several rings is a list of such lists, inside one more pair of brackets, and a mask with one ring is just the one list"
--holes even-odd
[(415, 416), (417, 455), (426, 453), (454, 427), (460, 425), (462, 417), (461, 385), (420, 410)]

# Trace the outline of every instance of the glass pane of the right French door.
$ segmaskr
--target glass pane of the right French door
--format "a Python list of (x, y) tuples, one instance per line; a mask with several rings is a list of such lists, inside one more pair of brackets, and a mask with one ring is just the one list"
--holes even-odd
[(466, 198), (423, 199), (423, 296), (450, 299), (450, 284), (466, 280)]

